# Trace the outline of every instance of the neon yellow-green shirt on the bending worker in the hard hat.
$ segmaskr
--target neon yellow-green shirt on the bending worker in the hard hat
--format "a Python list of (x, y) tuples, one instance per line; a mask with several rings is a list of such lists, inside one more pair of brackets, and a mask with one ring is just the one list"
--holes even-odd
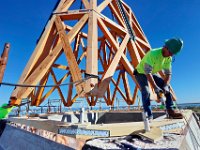
[(171, 62), (172, 57), (163, 57), (162, 48), (157, 48), (147, 52), (136, 69), (141, 74), (155, 74), (161, 70), (171, 74)]

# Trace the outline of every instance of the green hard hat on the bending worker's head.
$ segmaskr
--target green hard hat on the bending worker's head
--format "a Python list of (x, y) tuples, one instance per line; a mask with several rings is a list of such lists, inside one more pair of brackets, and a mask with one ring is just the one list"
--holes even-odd
[(165, 41), (165, 47), (168, 48), (168, 50), (172, 53), (172, 54), (177, 54), (181, 51), (181, 49), (183, 48), (183, 40), (180, 38), (172, 38), (172, 39), (168, 39)]

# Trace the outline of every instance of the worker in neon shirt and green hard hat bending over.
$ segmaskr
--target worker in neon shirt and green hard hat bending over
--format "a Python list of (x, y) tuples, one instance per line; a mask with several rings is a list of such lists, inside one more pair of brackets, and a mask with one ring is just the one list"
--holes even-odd
[[(165, 44), (161, 48), (152, 49), (146, 53), (141, 62), (137, 65), (134, 75), (140, 86), (142, 94), (142, 102), (144, 112), (147, 113), (147, 117), (153, 119), (150, 104), (150, 90), (149, 84), (154, 88), (156, 94), (163, 92), (166, 96), (166, 111), (168, 116), (173, 119), (182, 119), (183, 115), (177, 112), (173, 108), (173, 100), (170, 93), (170, 80), (171, 80), (171, 63), (172, 56), (181, 51), (183, 47), (183, 41), (179, 38), (172, 38), (165, 41)], [(162, 71), (165, 74), (164, 80), (156, 73)]]

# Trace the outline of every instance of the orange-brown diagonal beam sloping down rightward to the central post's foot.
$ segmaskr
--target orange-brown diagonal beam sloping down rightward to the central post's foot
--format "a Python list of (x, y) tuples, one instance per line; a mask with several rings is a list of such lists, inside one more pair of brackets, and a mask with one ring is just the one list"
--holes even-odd
[[(64, 53), (65, 53), (66, 58), (67, 58), (67, 62), (68, 62), (68, 66), (69, 66), (69, 69), (70, 69), (70, 73), (72, 75), (73, 82), (82, 80), (81, 71), (80, 71), (79, 66), (76, 62), (76, 58), (73, 54), (72, 48), (71, 48), (70, 43), (69, 43), (69, 39), (68, 39), (68, 37), (65, 33), (65, 30), (64, 30), (64, 27), (62, 25), (62, 21), (61, 21), (60, 17), (58, 17), (58, 16), (56, 17), (55, 24), (56, 24), (56, 28), (58, 30), (60, 39), (62, 41), (63, 50), (64, 50)], [(75, 86), (76, 86), (76, 90), (77, 90), (78, 95), (83, 94), (83, 92), (84, 92), (83, 83), (76, 84)]]

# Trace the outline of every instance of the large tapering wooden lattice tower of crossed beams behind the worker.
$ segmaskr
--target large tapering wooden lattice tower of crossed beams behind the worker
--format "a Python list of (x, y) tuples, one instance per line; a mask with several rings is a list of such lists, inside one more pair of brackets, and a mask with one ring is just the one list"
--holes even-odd
[[(82, 8), (77, 5), (82, 2)], [(138, 86), (133, 71), (150, 45), (131, 8), (122, 2), (135, 40), (130, 39), (117, 0), (61, 0), (47, 22), (37, 46), (25, 67), (19, 84), (46, 85), (76, 82), (84, 73), (97, 75), (68, 86), (16, 87), (11, 102), (30, 98), (40, 105), (58, 91), (64, 106), (85, 97), (90, 106), (98, 98), (113, 105), (116, 96), (134, 104)], [(62, 61), (59, 61), (62, 60)], [(63, 74), (57, 70), (62, 70)], [(131, 85), (131, 86), (130, 86)]]

